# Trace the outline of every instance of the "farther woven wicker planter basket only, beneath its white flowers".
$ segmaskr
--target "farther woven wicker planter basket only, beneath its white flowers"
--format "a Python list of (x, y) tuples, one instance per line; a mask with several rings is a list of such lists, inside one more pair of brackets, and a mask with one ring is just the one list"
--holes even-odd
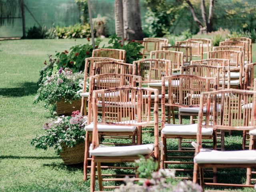
[(81, 105), (81, 99), (72, 101), (72, 104), (64, 102), (64, 100), (62, 100), (56, 103), (56, 115), (70, 116), (73, 111), (80, 111)]

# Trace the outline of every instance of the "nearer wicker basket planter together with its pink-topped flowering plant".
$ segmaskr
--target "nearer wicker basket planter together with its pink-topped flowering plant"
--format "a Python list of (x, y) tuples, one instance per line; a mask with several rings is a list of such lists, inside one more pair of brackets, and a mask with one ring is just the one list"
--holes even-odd
[(78, 164), (84, 162), (83, 124), (86, 116), (81, 116), (79, 111), (72, 112), (71, 116), (56, 117), (51, 122), (43, 125), (45, 133), (36, 135), (31, 144), (36, 149), (54, 148), (65, 164)]

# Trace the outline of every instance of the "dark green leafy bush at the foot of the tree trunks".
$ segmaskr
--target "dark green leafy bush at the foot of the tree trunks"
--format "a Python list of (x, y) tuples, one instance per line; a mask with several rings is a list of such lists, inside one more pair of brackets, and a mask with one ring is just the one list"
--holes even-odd
[(142, 58), (140, 50), (143, 48), (143, 46), (140, 44), (140, 42), (135, 42), (134, 40), (131, 40), (123, 45), (121, 43), (120, 37), (116, 35), (111, 35), (109, 38), (110, 40), (108, 44), (112, 45), (108, 46), (107, 48), (126, 50), (126, 63), (132, 63)]

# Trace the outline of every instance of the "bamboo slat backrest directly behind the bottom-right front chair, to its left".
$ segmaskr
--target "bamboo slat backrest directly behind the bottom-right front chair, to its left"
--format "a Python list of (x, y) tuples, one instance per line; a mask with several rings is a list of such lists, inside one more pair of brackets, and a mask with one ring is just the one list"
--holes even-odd
[(216, 90), (218, 87), (217, 78), (199, 77), (189, 74), (165, 76), (162, 78), (162, 98), (166, 94), (165, 86), (167, 83), (168, 106), (176, 107), (199, 107), (200, 94)]

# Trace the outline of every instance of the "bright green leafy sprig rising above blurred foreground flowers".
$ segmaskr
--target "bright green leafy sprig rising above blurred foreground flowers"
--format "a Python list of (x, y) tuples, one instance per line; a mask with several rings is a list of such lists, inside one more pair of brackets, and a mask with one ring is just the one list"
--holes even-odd
[(138, 167), (139, 178), (151, 179), (151, 174), (158, 168), (158, 163), (152, 157), (145, 159), (144, 156), (140, 156), (140, 159), (135, 160), (135, 163)]

